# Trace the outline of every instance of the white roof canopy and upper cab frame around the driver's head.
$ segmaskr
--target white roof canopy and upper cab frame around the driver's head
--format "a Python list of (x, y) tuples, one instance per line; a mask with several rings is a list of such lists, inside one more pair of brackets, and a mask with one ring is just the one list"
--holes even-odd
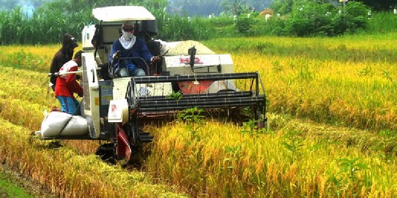
[(84, 27), (82, 46), (86, 52), (95, 52), (98, 67), (108, 63), (113, 42), (122, 35), (123, 23), (133, 23), (134, 35), (145, 41), (157, 35), (156, 17), (142, 6), (99, 7), (92, 10), (92, 15), (99, 23)]

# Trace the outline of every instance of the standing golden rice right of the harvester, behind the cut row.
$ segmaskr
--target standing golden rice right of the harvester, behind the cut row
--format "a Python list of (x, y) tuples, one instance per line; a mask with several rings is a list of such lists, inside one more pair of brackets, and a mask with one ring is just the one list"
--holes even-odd
[(272, 112), (396, 130), (396, 36), (223, 39), (207, 45), (232, 53), (236, 71), (261, 73)]

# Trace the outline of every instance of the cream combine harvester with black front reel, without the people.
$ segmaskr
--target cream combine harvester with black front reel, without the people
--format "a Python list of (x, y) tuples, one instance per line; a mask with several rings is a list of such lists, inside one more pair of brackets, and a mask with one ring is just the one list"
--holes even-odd
[[(267, 124), (264, 88), (258, 72), (234, 73), (230, 54), (216, 54), (195, 41), (152, 40), (156, 35), (155, 17), (142, 6), (95, 8), (93, 16), (100, 23), (82, 31), (82, 116), (68, 118), (78, 123), (75, 125), (79, 130), (69, 126), (73, 123), (65, 123), (54, 129), (57, 133), (46, 134), (43, 124), (48, 125), (49, 120), (45, 119), (42, 131), (37, 133), (41, 139), (107, 141), (96, 154), (102, 159), (126, 159), (132, 163), (142, 143), (153, 139), (142, 131), (143, 123), (154, 118), (161, 120), (178, 110), (197, 107), (207, 112), (229, 112), (245, 108), (250, 109), (250, 119), (259, 127)], [(148, 76), (121, 78), (118, 69), (109, 63), (112, 44), (120, 37), (125, 21), (135, 24), (135, 35), (146, 41), (152, 55), (162, 57), (161, 61), (146, 65)], [(98, 39), (96, 48), (91, 44), (94, 34)]]

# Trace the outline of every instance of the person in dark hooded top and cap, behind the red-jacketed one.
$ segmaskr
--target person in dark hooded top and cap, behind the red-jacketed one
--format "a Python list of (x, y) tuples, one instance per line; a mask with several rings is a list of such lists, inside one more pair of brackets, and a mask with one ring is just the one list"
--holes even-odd
[[(72, 59), (74, 48), (76, 48), (77, 41), (70, 34), (65, 34), (62, 41), (62, 48), (54, 55), (54, 58), (51, 62), (50, 73), (59, 72), (61, 67), (69, 60)], [(57, 76), (52, 75), (50, 78), (50, 85), (55, 91), (55, 84), (57, 82)]]

